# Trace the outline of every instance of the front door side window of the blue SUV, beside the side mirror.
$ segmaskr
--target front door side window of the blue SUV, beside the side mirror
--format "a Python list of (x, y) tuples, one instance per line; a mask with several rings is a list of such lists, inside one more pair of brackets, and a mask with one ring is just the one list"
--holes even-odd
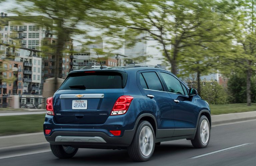
[(182, 94), (184, 91), (181, 87), (180, 81), (170, 74), (160, 72), (169, 92)]

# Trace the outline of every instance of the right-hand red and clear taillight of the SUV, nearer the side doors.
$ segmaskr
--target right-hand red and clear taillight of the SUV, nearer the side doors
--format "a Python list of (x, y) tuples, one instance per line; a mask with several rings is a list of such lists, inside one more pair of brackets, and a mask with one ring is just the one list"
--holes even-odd
[(132, 102), (132, 96), (120, 96), (111, 111), (110, 115), (122, 115), (125, 114)]

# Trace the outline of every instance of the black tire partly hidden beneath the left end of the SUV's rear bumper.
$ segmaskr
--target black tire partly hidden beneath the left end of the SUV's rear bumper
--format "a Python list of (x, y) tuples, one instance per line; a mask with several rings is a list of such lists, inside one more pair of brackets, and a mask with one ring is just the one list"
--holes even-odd
[(78, 150), (78, 148), (73, 148), (72, 150), (70, 150), (68, 152), (68, 151), (64, 150), (65, 146), (63, 147), (63, 145), (50, 144), (50, 147), (51, 147), (52, 153), (58, 158), (71, 158), (76, 154), (76, 152)]

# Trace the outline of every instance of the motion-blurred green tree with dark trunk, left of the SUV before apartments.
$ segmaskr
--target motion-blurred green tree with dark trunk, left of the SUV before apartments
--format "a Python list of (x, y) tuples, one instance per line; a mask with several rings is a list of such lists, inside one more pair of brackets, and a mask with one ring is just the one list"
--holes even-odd
[[(57, 77), (59, 76), (59, 60), (61, 59), (65, 50), (66, 41), (74, 35), (83, 35), (85, 38), (89, 37), (91, 32), (89, 29), (81, 27), (91, 25), (99, 21), (97, 13), (103, 11), (118, 10), (115, 8), (114, 1), (107, 0), (16, 0), (16, 2), (25, 8), (25, 11), (19, 9), (14, 10), (19, 16), (22, 15), (43, 15), (52, 20), (41, 19), (34, 20), (33, 18), (23, 19), (24, 22), (35, 22), (49, 30), (56, 31), (57, 41), (55, 45), (50, 45), (45, 48), (48, 53), (55, 55), (55, 83), (54, 89), (57, 90)], [(106, 17), (105, 17), (106, 18)], [(101, 20), (104, 22), (104, 20)]]

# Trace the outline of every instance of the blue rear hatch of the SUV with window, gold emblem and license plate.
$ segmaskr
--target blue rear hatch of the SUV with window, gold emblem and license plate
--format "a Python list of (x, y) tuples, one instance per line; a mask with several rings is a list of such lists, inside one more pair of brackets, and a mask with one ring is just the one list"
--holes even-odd
[(70, 73), (54, 95), (57, 123), (103, 124), (123, 95), (127, 73), (82, 71)]

